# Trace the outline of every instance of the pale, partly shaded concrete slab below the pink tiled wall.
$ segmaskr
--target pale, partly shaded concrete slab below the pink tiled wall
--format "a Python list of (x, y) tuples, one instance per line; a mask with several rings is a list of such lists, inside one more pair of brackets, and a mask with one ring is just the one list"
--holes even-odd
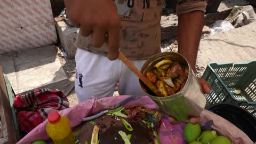
[(15, 94), (38, 87), (66, 90), (69, 81), (56, 54), (54, 46), (46, 46), (18, 54), (1, 55), (0, 65)]

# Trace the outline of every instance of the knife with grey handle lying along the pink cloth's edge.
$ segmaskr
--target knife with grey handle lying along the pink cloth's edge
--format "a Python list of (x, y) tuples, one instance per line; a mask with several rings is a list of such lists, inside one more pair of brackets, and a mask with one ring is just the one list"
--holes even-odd
[[(120, 96), (118, 96), (120, 97)], [(121, 96), (122, 97), (122, 96)], [(142, 96), (143, 97), (143, 96)], [(127, 98), (127, 99), (124, 99), (122, 100), (121, 102), (118, 102), (116, 105), (114, 105), (113, 108), (109, 108), (107, 110), (104, 110), (104, 111), (101, 111), (100, 113), (96, 114), (96, 115), (93, 115), (93, 116), (90, 116), (90, 117), (85, 117), (85, 118), (82, 118), (82, 121), (85, 122), (85, 121), (90, 121), (92, 119), (95, 119), (95, 118), (98, 118), (106, 113), (108, 113), (109, 111), (111, 110), (114, 110), (122, 105), (124, 105), (125, 103), (128, 103), (130, 101), (133, 101), (133, 100), (137, 100), (139, 98), (142, 98), (141, 96), (135, 96), (135, 95), (132, 95), (131, 97)]]

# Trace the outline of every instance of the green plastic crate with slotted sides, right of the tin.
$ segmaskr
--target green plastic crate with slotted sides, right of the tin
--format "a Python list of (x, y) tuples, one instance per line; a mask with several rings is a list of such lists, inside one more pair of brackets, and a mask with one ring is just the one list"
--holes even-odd
[[(209, 63), (202, 76), (210, 85), (206, 106), (228, 102), (256, 117), (256, 61), (247, 63)], [(241, 90), (235, 94), (232, 90)]]

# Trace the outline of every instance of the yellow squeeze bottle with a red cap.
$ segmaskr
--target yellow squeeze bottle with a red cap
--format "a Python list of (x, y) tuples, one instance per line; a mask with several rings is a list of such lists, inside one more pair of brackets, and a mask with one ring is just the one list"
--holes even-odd
[(57, 111), (52, 111), (47, 119), (46, 132), (54, 144), (75, 143), (75, 134), (71, 130), (67, 117), (61, 116)]

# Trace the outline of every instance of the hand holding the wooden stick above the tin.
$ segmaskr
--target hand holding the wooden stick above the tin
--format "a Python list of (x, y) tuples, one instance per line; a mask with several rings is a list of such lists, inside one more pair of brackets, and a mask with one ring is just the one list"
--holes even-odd
[(113, 0), (65, 0), (68, 17), (82, 36), (92, 37), (92, 46), (108, 43), (108, 59), (115, 60), (119, 50), (120, 19)]

